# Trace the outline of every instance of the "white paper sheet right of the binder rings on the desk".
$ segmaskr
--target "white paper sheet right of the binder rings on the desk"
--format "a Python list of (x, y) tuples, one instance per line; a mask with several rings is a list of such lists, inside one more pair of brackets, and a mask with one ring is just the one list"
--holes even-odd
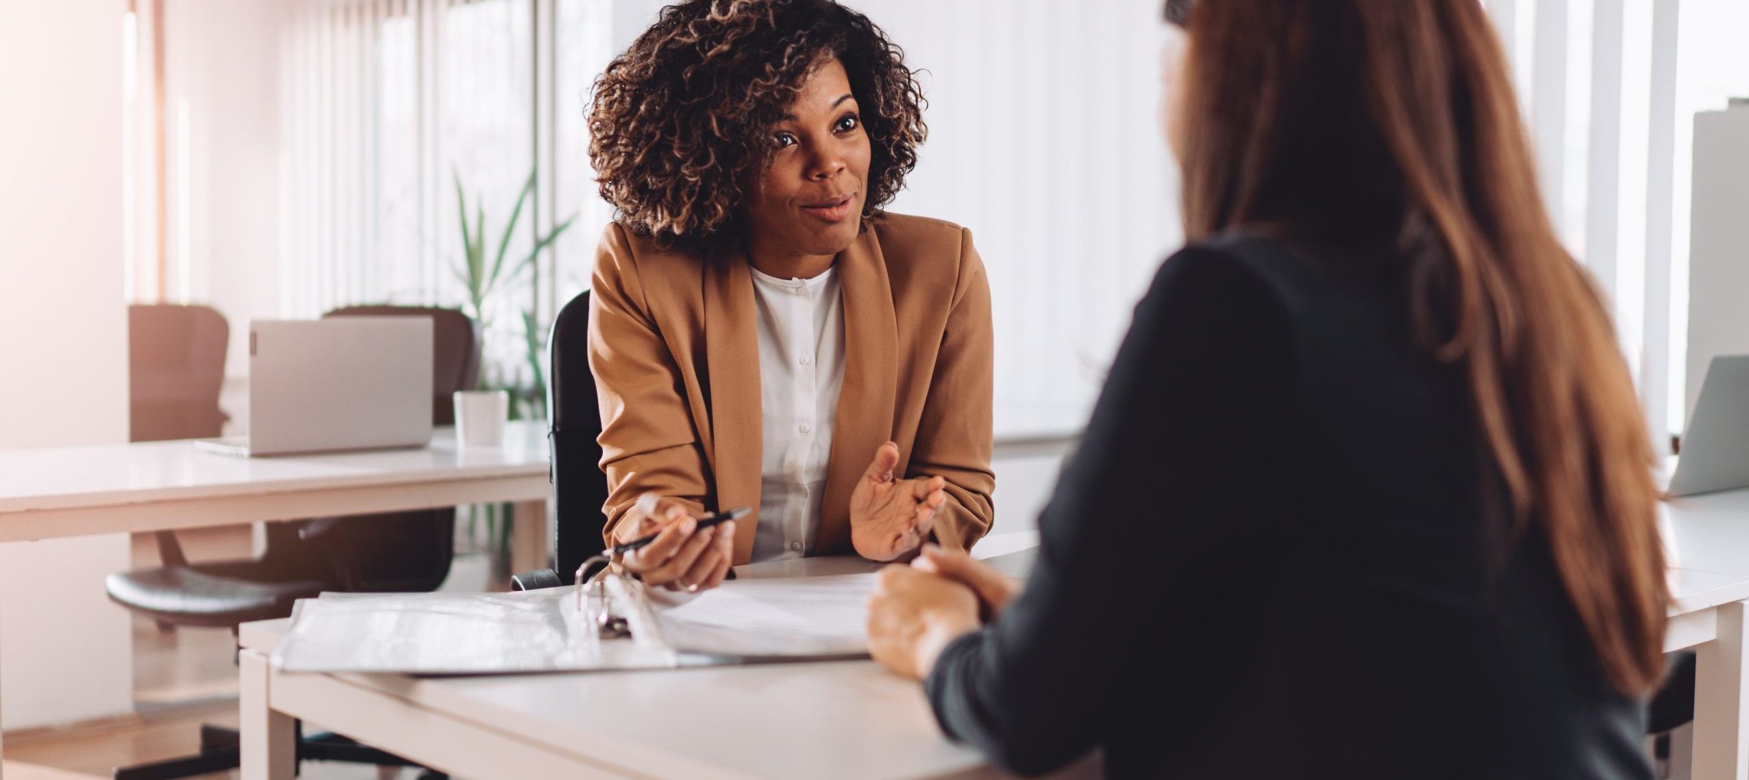
[(868, 658), (874, 574), (733, 579), (705, 593), (649, 591), (661, 642), (742, 661)]

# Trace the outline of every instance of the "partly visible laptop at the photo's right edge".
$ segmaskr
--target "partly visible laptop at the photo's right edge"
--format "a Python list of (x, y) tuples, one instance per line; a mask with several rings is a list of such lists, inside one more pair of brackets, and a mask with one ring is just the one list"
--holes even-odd
[(1749, 355), (1718, 355), (1683, 432), (1670, 495), (1737, 488), (1749, 488)]

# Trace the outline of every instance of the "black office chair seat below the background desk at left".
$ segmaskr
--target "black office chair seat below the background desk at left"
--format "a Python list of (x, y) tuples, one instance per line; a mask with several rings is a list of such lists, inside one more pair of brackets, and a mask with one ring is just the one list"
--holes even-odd
[(292, 602), (324, 591), (320, 581), (250, 582), (192, 567), (136, 568), (103, 579), (112, 602), (184, 626), (268, 621), (292, 614)]

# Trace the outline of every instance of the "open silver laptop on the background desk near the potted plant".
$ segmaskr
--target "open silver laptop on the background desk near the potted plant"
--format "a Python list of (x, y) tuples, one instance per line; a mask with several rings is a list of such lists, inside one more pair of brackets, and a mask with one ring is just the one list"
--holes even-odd
[(248, 435), (224, 455), (420, 448), (432, 437), (432, 320), (329, 317), (248, 324)]

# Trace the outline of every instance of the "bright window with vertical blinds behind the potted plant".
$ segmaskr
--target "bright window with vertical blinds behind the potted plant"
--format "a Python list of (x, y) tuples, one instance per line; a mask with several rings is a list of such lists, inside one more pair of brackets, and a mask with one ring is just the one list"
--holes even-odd
[(287, 28), (282, 315), (469, 299), (460, 182), (507, 264), (575, 217), (488, 299), (486, 381), (528, 387), (525, 320), (544, 336), (588, 282), (607, 208), (584, 156), (584, 89), (609, 58), (596, 0), (299, 0)]

